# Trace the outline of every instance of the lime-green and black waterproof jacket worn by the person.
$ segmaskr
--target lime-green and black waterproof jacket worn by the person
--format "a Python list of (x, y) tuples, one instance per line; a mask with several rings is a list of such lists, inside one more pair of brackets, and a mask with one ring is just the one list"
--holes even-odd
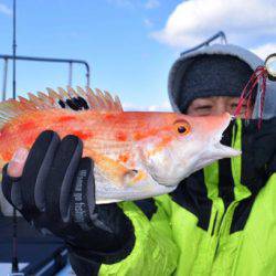
[(84, 263), (86, 275), (276, 275), (276, 174), (255, 168), (251, 131), (240, 120), (224, 138), (242, 157), (209, 166), (171, 194), (120, 203), (135, 245), (113, 264)]

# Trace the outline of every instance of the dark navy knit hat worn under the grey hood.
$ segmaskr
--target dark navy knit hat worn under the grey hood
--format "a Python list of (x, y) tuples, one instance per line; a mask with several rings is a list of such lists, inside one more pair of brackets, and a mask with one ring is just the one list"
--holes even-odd
[(177, 99), (182, 113), (199, 97), (240, 97), (253, 74), (248, 64), (232, 55), (202, 54), (189, 59), (188, 64)]

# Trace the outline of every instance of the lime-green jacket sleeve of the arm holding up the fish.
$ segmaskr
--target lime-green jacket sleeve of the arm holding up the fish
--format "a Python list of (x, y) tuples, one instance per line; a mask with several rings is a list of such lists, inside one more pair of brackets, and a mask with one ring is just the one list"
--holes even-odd
[(168, 212), (163, 208), (164, 201), (164, 198), (156, 200), (157, 209), (150, 219), (134, 202), (120, 203), (135, 229), (131, 251), (112, 264), (81, 259), (71, 254), (71, 263), (76, 274), (85, 275), (81, 272), (85, 268), (86, 275), (171, 275), (177, 267), (178, 248), (172, 240)]

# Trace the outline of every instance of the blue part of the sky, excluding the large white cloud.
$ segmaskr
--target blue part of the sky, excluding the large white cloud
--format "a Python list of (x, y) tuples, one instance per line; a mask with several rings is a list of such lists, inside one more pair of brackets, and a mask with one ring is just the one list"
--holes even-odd
[[(86, 60), (92, 87), (118, 94), (130, 108), (163, 105), (168, 71), (178, 52), (150, 38), (150, 32), (162, 28), (179, 2), (18, 0), (17, 51)], [(0, 3), (11, 8), (11, 1)], [(11, 14), (0, 12), (0, 53), (11, 53)], [(76, 66), (73, 76), (73, 85), (85, 84), (82, 67)], [(65, 85), (65, 65), (18, 63), (20, 94)]]

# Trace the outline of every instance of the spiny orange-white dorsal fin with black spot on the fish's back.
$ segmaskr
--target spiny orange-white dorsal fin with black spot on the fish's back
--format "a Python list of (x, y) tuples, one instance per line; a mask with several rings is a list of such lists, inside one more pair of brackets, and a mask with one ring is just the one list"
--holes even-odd
[(38, 92), (36, 95), (28, 93), (29, 99), (19, 96), (18, 100), (8, 99), (0, 103), (0, 127), (10, 119), (26, 112), (38, 109), (67, 108), (72, 110), (92, 109), (97, 112), (121, 113), (123, 107), (117, 96), (113, 97), (108, 92), (77, 86), (76, 91), (71, 86), (67, 89), (61, 87), (57, 92), (46, 88), (47, 94)]

